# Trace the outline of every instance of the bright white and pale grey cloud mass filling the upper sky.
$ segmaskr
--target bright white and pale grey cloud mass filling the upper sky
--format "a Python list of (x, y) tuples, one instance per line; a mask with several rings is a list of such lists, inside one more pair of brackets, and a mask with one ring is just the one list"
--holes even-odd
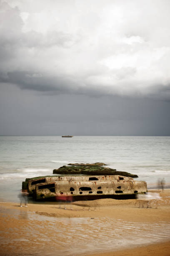
[[(45, 81), (51, 77), (49, 86), (56, 90), (59, 86), (60, 92), (58, 79), (65, 87), (71, 84), (76, 93), (109, 90), (169, 98), (169, 1), (7, 0), (0, 4), (2, 77), (25, 72), (30, 90), (41, 87), (38, 80), (34, 87), (31, 79), (41, 75)], [(11, 77), (9, 82), (20, 84)], [(48, 83), (42, 86), (48, 91)]]

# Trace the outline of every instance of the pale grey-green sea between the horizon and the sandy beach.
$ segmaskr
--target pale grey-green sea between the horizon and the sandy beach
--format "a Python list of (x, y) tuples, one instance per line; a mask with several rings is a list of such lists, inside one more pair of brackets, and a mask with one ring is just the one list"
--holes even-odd
[(170, 184), (170, 137), (0, 136), (0, 200), (18, 201), (25, 178), (52, 175), (68, 163), (104, 162), (138, 174), (148, 187)]

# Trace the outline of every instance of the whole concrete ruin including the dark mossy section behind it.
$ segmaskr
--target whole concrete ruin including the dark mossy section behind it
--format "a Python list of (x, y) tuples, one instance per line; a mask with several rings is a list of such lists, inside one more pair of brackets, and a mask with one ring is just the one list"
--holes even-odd
[[(56, 197), (81, 199), (121, 195), (135, 195), (147, 192), (144, 181), (135, 181), (136, 174), (117, 172), (105, 167), (107, 164), (68, 164), (53, 170), (55, 176), (25, 179), (23, 189), (28, 189), (36, 200)], [(84, 198), (83, 198), (84, 197)], [(81, 198), (81, 199), (80, 199)]]

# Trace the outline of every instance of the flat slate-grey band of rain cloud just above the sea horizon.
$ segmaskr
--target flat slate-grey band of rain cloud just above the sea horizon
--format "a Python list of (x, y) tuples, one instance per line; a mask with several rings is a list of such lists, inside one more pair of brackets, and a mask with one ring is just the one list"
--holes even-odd
[(40, 95), (3, 84), (3, 135), (170, 135), (170, 102), (147, 98)]

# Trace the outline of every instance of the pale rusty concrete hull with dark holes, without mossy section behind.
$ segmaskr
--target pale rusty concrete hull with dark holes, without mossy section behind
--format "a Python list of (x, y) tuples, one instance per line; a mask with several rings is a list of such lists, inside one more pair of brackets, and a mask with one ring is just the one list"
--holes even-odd
[(106, 196), (147, 192), (146, 182), (120, 175), (37, 177), (28, 179), (27, 188), (36, 200), (62, 195)]

